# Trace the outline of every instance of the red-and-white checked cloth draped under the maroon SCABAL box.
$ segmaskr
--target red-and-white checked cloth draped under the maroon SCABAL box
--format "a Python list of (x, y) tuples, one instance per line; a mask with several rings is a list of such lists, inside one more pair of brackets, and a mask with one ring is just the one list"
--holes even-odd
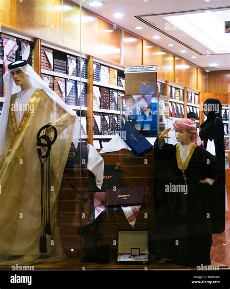
[[(106, 192), (95, 192), (94, 193), (94, 209), (95, 209), (95, 219), (98, 218), (101, 212), (106, 210), (105, 207), (105, 195)], [(126, 216), (126, 219), (134, 228), (136, 218), (139, 212), (139, 209), (142, 205), (139, 206), (121, 206), (122, 210)]]

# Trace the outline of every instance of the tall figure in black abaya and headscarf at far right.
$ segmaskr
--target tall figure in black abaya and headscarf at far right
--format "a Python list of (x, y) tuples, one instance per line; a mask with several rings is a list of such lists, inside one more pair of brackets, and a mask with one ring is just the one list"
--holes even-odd
[(213, 233), (222, 233), (225, 230), (225, 148), (224, 125), (221, 115), (222, 105), (217, 99), (207, 99), (203, 110), (207, 119), (201, 124), (199, 136), (207, 148), (208, 140), (214, 140), (215, 156), (219, 160), (220, 170), (217, 176), (217, 195), (214, 202), (212, 218)]

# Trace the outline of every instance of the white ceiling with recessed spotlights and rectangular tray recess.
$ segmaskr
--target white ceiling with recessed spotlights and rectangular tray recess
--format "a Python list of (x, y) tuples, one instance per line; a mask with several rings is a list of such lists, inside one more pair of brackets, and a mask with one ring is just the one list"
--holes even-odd
[[(72, 1), (80, 4), (81, 0)], [(105, 4), (101, 7), (91, 7), (87, 5), (88, 1), (82, 0), (82, 7), (142, 38), (156, 43), (163, 49), (179, 55), (201, 68), (206, 68), (210, 71), (230, 70), (230, 46), (228, 46), (230, 43), (221, 43), (218, 47), (218, 42), (221, 39), (228, 41), (230, 34), (222, 35), (224, 38), (216, 39), (217, 44), (212, 47), (205, 42), (205, 39), (215, 39), (212, 35), (214, 28), (216, 29), (213, 34), (218, 35), (224, 30), (224, 21), (230, 20), (230, 17), (226, 18), (230, 15), (230, 0), (103, 0)], [(223, 11), (223, 14), (219, 11)], [(124, 17), (120, 19), (113, 17), (116, 12), (124, 14)], [(213, 12), (218, 12), (218, 16), (217, 13)], [(195, 13), (200, 13), (204, 16), (204, 25), (202, 27), (198, 22), (197, 27), (193, 23), (193, 28), (199, 30), (201, 35), (202, 33), (204, 34), (203, 39), (198, 37), (195, 39), (194, 35), (185, 33), (185, 29), (183, 31), (174, 30), (170, 26), (170, 22), (165, 19), (165, 17), (185, 15), (184, 19), (188, 20), (189, 14)], [(207, 23), (207, 21), (210, 21), (210, 23)], [(223, 26), (221, 26), (221, 22)], [(134, 29), (135, 26), (142, 26), (144, 29), (136, 30)], [(208, 31), (209, 27), (209, 32), (212, 30), (211, 33), (202, 32), (202, 29)], [(221, 27), (223, 27), (223, 30), (218, 33), (218, 29), (221, 29)], [(152, 39), (153, 35), (159, 35), (161, 38)], [(169, 47), (167, 46), (168, 43), (173, 43), (174, 46)], [(223, 47), (225, 48), (224, 54), (219, 52)], [(180, 53), (181, 50), (186, 50), (187, 52)], [(197, 58), (193, 59), (191, 56), (197, 56)], [(210, 63), (218, 63), (217, 68), (209, 68)]]

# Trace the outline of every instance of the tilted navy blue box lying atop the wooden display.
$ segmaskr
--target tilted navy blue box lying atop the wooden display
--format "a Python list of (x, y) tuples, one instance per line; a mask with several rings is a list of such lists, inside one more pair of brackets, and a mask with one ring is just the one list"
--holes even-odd
[(126, 123), (118, 131), (124, 142), (132, 149), (136, 155), (142, 155), (152, 149), (150, 142), (143, 136), (131, 122)]

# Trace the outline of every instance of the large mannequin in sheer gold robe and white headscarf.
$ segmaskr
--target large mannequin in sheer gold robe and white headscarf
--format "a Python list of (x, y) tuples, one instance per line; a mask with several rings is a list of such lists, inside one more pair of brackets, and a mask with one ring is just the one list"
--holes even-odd
[[(76, 129), (76, 115), (44, 85), (27, 63), (16, 62), (8, 68), (3, 77), (6, 98), (0, 119), (0, 265), (60, 260), (65, 254), (56, 211), (62, 175)], [(37, 88), (39, 86), (44, 89)], [(12, 87), (21, 89), (11, 95), (9, 88)], [(41, 254), (41, 180), (36, 135), (46, 124), (56, 128), (57, 139), (50, 154), (51, 236), (47, 236), (48, 252)], [(43, 134), (52, 138), (49, 130)]]

